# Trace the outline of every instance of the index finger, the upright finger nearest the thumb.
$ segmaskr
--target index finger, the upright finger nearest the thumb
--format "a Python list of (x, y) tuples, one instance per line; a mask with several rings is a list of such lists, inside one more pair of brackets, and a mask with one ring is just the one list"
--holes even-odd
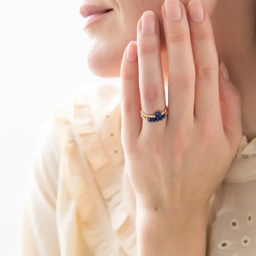
[(190, 1), (187, 10), (196, 70), (195, 117), (201, 123), (222, 125), (218, 54), (209, 13), (199, 0)]

